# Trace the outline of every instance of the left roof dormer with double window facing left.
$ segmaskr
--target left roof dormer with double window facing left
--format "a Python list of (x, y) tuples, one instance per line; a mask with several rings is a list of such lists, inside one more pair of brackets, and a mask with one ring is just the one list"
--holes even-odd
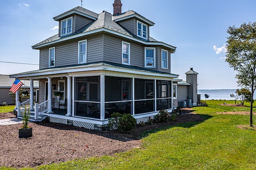
[(80, 6), (73, 8), (53, 19), (59, 22), (59, 37), (66, 36), (98, 19), (98, 14)]

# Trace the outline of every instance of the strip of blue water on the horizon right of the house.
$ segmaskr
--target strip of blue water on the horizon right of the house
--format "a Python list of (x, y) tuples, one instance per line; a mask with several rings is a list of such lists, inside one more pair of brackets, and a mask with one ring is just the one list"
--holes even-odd
[(201, 100), (205, 100), (205, 94), (209, 96), (207, 100), (234, 100), (235, 98), (230, 95), (236, 95), (236, 89), (198, 90), (198, 94), (201, 95)]

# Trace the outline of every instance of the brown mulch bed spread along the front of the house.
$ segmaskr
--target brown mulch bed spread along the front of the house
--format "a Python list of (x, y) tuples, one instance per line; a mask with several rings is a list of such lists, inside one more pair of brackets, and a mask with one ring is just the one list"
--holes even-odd
[[(184, 111), (188, 113), (190, 111)], [(1, 113), (0, 119), (10, 119), (13, 113)], [(21, 124), (0, 127), (0, 166), (22, 168), (59, 163), (75, 158), (113, 155), (139, 148), (140, 135), (150, 129), (204, 119), (196, 114), (179, 115), (176, 121), (154, 122), (136, 127), (127, 133), (114, 130), (88, 130), (58, 123), (29, 123), (33, 128), (30, 138), (18, 138)]]

